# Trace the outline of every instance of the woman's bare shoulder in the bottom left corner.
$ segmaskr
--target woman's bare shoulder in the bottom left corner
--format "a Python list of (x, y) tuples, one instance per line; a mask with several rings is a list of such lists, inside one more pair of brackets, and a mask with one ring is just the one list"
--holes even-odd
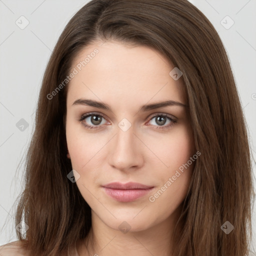
[(22, 247), (19, 240), (0, 246), (0, 256), (28, 256), (28, 251)]

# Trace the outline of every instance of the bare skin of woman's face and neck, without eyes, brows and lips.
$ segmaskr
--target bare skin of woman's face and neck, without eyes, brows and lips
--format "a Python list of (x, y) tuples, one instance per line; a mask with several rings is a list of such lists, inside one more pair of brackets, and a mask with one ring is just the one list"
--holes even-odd
[[(183, 106), (138, 110), (143, 104), (170, 99), (186, 104), (180, 80), (169, 75), (174, 66), (156, 50), (117, 41), (86, 46), (73, 59), (72, 68), (95, 48), (99, 52), (70, 80), (66, 99), (67, 157), (79, 173), (75, 174), (76, 185), (91, 207), (92, 228), (86, 239), (90, 255), (169, 256), (193, 164), (155, 201), (148, 198), (195, 153), (191, 127)], [(72, 105), (79, 98), (104, 102), (112, 111)], [(89, 112), (103, 115), (100, 124), (91, 122), (91, 116), (78, 121)], [(166, 118), (160, 125), (156, 114), (167, 114), (176, 122)], [(131, 124), (126, 131), (118, 126), (123, 118)], [(87, 129), (83, 123), (100, 128)], [(169, 123), (168, 128), (159, 128)], [(113, 181), (154, 188), (132, 202), (119, 202), (101, 187)], [(130, 227), (126, 233), (118, 228), (123, 221)], [(88, 255), (84, 241), (78, 253)]]

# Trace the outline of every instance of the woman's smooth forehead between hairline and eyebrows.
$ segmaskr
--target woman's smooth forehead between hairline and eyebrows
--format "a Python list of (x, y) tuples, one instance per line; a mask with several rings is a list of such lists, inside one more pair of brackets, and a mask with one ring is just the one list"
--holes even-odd
[(173, 68), (151, 47), (96, 41), (72, 61), (70, 70), (76, 74), (68, 84), (67, 104), (78, 97), (119, 105), (159, 99), (185, 103), (180, 80), (169, 75)]

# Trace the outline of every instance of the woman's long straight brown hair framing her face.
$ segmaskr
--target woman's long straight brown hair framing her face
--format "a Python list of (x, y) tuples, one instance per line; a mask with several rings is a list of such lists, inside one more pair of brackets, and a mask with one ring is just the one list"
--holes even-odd
[[(27, 152), (25, 187), (15, 224), (28, 230), (31, 255), (66, 252), (91, 227), (90, 207), (67, 174), (65, 115), (71, 62), (94, 40), (153, 47), (182, 71), (196, 160), (179, 218), (175, 256), (245, 256), (251, 237), (251, 159), (244, 116), (227, 54), (213, 25), (187, 0), (92, 0), (68, 22), (47, 64), (35, 129)], [(100, 52), (99, 52), (100, 54)], [(226, 234), (222, 224), (234, 229)]]

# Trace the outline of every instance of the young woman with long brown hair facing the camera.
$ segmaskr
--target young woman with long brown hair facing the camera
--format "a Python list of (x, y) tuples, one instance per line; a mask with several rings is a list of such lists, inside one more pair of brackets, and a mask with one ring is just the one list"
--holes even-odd
[(25, 177), (28, 229), (2, 255), (247, 255), (248, 139), (209, 20), (186, 0), (84, 5), (45, 70)]

